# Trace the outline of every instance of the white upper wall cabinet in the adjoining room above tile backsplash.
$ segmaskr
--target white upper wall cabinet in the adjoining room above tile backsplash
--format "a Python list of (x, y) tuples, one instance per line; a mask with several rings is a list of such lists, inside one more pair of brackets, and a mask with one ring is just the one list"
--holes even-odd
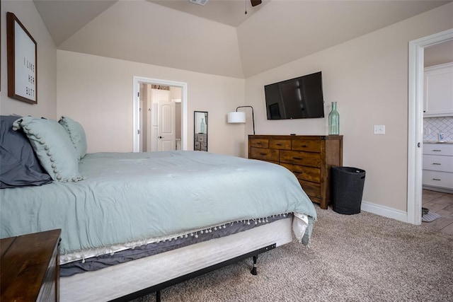
[(425, 68), (423, 115), (453, 116), (453, 62)]

